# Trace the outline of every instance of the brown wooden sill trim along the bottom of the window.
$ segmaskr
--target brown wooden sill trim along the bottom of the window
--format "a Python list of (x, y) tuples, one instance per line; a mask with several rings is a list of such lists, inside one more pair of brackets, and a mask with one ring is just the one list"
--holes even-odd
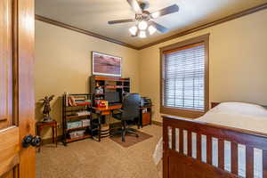
[(188, 118), (198, 118), (202, 117), (206, 112), (203, 110), (193, 110), (193, 109), (176, 109), (176, 108), (166, 108), (160, 107), (161, 114), (174, 115), (177, 117), (188, 117)]

